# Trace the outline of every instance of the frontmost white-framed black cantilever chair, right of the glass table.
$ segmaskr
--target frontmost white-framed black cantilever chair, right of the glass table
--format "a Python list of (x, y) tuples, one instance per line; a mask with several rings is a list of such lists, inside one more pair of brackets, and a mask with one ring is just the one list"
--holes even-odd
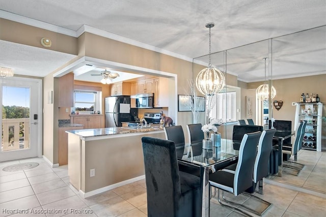
[(239, 158), (235, 171), (219, 170), (209, 175), (208, 211), (210, 211), (210, 187), (212, 186), (214, 188), (218, 188), (218, 201), (221, 205), (230, 207), (243, 214), (251, 216), (247, 212), (244, 212), (237, 207), (222, 203), (220, 199), (220, 190), (223, 191), (222, 197), (224, 198), (224, 191), (230, 192), (234, 194), (234, 196), (238, 196), (241, 192), (244, 192), (252, 187), (254, 164), (260, 135), (261, 132), (244, 134), (239, 148)]

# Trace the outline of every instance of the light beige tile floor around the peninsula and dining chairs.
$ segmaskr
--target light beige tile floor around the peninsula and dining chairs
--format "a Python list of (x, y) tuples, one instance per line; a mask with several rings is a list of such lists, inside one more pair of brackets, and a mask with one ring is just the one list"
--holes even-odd
[[(325, 162), (323, 156), (320, 159)], [(8, 165), (23, 162), (36, 162), (39, 166), (17, 172), (3, 171)], [(323, 172), (325, 166), (321, 163), (320, 167), (314, 168), (316, 172)], [(2, 162), (0, 169), (0, 216), (147, 216), (145, 180), (84, 199), (69, 185), (67, 166), (51, 168), (43, 159), (33, 158)], [(321, 178), (326, 179), (324, 176)], [(324, 216), (326, 212), (326, 196), (317, 197), (274, 184), (265, 184), (264, 191), (264, 195), (258, 196), (273, 205), (263, 216)], [(235, 198), (228, 194), (227, 198), (259, 206), (246, 196)], [(212, 199), (211, 216), (241, 214), (222, 207)]]

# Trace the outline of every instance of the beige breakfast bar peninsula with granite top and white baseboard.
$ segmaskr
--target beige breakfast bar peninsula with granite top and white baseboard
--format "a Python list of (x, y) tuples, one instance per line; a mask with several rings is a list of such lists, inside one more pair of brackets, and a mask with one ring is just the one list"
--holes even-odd
[(145, 178), (142, 137), (165, 139), (159, 127), (66, 132), (69, 182), (85, 198)]

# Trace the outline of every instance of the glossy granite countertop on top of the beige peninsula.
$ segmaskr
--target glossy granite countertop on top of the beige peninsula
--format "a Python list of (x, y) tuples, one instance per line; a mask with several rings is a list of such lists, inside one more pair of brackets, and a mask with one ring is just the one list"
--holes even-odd
[(116, 128), (98, 128), (98, 129), (85, 129), (85, 130), (71, 130), (66, 131), (80, 137), (94, 137), (94, 136), (107, 136), (107, 135), (118, 135), (118, 134), (133, 134), (133, 133), (145, 133), (151, 131), (162, 131), (160, 128), (144, 128), (144, 129), (128, 129), (123, 127)]

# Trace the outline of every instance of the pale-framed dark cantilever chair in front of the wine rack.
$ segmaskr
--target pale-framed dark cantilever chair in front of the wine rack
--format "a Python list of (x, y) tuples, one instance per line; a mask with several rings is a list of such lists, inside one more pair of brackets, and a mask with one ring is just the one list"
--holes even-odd
[[(290, 154), (291, 156), (294, 157), (294, 161), (297, 161), (298, 145), (300, 142), (302, 143), (301, 130), (303, 128), (303, 125), (304, 125), (303, 121), (297, 123), (296, 128), (295, 128), (293, 144), (285, 144), (282, 146), (282, 153)], [(290, 171), (288, 169), (285, 169), (285, 170), (283, 169), (282, 172), (292, 174), (292, 175), (298, 175), (305, 165), (299, 164), (297, 162), (296, 162), (296, 164), (301, 165), (301, 167), (294, 166), (293, 162), (292, 162), (292, 164), (291, 163), (289, 163), (289, 164), (283, 163), (282, 167), (289, 168)]]

